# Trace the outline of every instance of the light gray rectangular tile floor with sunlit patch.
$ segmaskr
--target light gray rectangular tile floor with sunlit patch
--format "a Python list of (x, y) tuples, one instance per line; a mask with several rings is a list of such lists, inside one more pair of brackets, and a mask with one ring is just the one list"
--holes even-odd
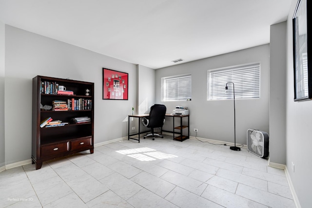
[(0, 207), (294, 208), (284, 170), (195, 139), (123, 140), (0, 172)]

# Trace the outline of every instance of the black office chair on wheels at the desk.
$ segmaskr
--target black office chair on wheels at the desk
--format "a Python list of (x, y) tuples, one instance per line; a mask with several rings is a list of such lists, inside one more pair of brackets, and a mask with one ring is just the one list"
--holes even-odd
[[(142, 118), (142, 123), (147, 128), (151, 128), (152, 133), (146, 134), (143, 138), (147, 136), (153, 136), (153, 140), (155, 140), (155, 136), (159, 136), (164, 138), (162, 133), (162, 126), (165, 123), (165, 114), (166, 114), (166, 106), (161, 104), (155, 104), (151, 107), (151, 111), (148, 117)], [(154, 132), (154, 128), (160, 128), (160, 134)]]

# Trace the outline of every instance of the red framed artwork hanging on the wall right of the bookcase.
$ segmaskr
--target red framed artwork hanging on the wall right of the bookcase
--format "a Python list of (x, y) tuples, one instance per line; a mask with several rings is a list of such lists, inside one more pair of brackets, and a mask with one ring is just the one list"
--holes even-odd
[(103, 68), (103, 100), (128, 100), (128, 73)]

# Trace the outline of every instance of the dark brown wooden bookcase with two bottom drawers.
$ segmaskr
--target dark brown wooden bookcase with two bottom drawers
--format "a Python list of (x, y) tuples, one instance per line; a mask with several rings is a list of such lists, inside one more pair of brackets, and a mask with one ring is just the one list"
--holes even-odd
[[(65, 86), (74, 95), (58, 95)], [(85, 90), (89, 95), (85, 95)], [(55, 102), (54, 102), (55, 101)], [(58, 103), (62, 101), (63, 103)], [(48, 76), (33, 78), (32, 161), (36, 170), (42, 163), (80, 151), (94, 151), (94, 83)], [(73, 105), (73, 102), (77, 105)], [(62, 111), (41, 110), (42, 106)], [(60, 107), (61, 106), (61, 107)], [(76, 108), (77, 107), (77, 108)], [(76, 109), (76, 110), (71, 110)], [(46, 118), (68, 122), (64, 126), (40, 127)], [(72, 123), (72, 118), (88, 117), (88, 122)]]

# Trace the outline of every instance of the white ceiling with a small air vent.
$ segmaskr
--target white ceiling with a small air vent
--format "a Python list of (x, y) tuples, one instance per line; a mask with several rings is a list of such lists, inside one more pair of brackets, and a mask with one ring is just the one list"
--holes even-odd
[[(0, 0), (0, 20), (153, 69), (270, 42), (291, 0)], [(172, 60), (184, 61), (174, 63)]]

